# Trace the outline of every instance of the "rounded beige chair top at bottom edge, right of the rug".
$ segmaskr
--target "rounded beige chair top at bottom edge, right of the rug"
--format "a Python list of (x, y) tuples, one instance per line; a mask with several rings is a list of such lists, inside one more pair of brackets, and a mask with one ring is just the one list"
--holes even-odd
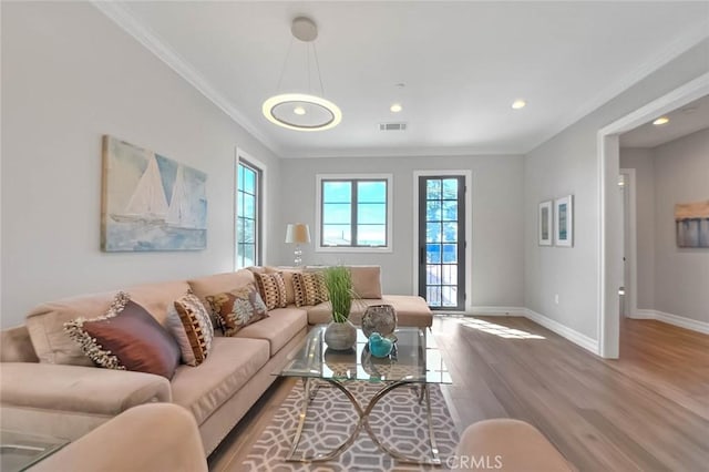
[(471, 424), (463, 431), (449, 464), (454, 471), (572, 472), (575, 469), (530, 423), (495, 419)]

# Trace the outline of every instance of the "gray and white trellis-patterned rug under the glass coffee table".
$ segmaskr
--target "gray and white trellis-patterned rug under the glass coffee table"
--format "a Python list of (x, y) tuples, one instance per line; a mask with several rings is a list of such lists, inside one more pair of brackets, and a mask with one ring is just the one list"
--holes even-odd
[[(357, 412), (337, 388), (318, 381), (319, 388), (304, 428), (298, 453), (307, 455), (332, 450), (350, 435), (357, 424)], [(380, 384), (352, 381), (348, 388), (366, 408), (369, 399), (379, 390)], [(454, 453), (458, 432), (445, 404), (441, 389), (436, 384), (429, 387), (433, 428), (439, 447), (442, 466), (412, 465), (395, 462), (389, 454), (381, 452), (362, 428), (354, 443), (339, 458), (330, 462), (298, 463), (286, 462), (300, 412), (302, 383), (298, 382), (281, 404), (271, 423), (264, 430), (254, 444), (242, 470), (253, 471), (431, 471), (445, 470), (445, 459)], [(377, 438), (390, 449), (414, 458), (429, 458), (429, 430), (425, 407), (418, 403), (418, 396), (411, 387), (401, 387), (389, 392), (377, 403), (370, 414), (370, 424)]]

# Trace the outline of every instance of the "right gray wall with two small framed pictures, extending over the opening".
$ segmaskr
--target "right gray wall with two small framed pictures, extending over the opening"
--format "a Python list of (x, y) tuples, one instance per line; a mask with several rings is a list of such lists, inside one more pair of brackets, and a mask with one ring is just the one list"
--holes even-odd
[[(524, 301), (527, 308), (567, 329), (598, 339), (598, 130), (708, 70), (709, 40), (705, 40), (526, 155)], [(565, 194), (575, 195), (574, 247), (540, 247), (537, 205)], [(555, 294), (559, 295), (558, 305), (554, 302)]]

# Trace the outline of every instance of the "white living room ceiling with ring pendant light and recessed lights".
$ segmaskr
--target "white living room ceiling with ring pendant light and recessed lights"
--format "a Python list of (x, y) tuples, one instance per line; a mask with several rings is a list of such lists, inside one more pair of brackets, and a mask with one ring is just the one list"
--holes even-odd
[[(281, 157), (524, 153), (709, 34), (709, 2), (94, 4)], [(297, 41), (277, 90), (301, 14), (342, 110), (333, 130), (261, 114), (277, 92), (307, 92)], [(392, 121), (407, 131), (379, 131)]]

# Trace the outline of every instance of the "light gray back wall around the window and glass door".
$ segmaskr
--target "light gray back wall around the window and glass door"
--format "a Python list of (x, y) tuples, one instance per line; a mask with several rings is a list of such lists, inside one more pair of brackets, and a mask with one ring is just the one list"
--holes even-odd
[[(331, 254), (304, 249), (304, 264), (380, 264), (383, 290), (411, 294), (413, 260), (413, 171), (470, 170), (473, 222), (472, 306), (520, 307), (523, 301), (522, 157), (366, 157), (284, 160), (281, 233), (288, 223), (308, 223), (316, 215), (316, 174), (393, 174), (393, 253)], [(315, 234), (315, 232), (314, 232)], [(281, 239), (282, 242), (282, 239)], [(315, 244), (315, 243), (312, 243)], [(292, 247), (281, 243), (280, 263), (292, 264)], [(470, 297), (469, 297), (470, 299)]]

